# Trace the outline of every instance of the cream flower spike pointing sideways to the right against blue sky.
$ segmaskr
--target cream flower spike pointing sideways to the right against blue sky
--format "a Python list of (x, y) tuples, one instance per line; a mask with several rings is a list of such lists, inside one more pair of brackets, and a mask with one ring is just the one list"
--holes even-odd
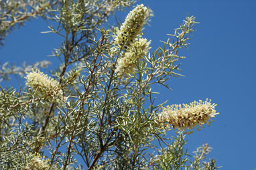
[(209, 124), (211, 117), (216, 114), (216, 104), (211, 104), (211, 100), (205, 102), (191, 102), (190, 104), (174, 104), (167, 106), (158, 115), (159, 124), (170, 124), (172, 128), (192, 133), (192, 129), (198, 125), (197, 129), (203, 128), (202, 124)]

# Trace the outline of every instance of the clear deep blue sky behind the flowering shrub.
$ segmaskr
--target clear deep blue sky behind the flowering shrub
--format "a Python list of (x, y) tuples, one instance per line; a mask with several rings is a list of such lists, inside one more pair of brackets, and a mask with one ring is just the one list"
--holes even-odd
[[(208, 143), (213, 148), (211, 157), (222, 169), (253, 169), (256, 167), (256, 96), (255, 80), (255, 18), (256, 1), (139, 1), (154, 11), (151, 26), (146, 26), (144, 37), (151, 39), (152, 49), (162, 46), (167, 33), (173, 33), (189, 14), (196, 17), (196, 25), (188, 50), (180, 50), (181, 74), (169, 84), (174, 89), (159, 86), (159, 102), (188, 103), (211, 98), (220, 112), (215, 122), (203, 131), (188, 135), (188, 151)], [(125, 15), (128, 11), (125, 11)], [(124, 17), (125, 15), (121, 16)], [(48, 58), (62, 41), (57, 35), (42, 34), (48, 25), (42, 19), (26, 23), (11, 32), (0, 48), (0, 62), (26, 61), (33, 64), (50, 60), (54, 69), (58, 60)], [(16, 80), (15, 80), (16, 81)], [(11, 81), (13, 82), (13, 81)], [(14, 82), (16, 83), (16, 82)], [(21, 84), (18, 80), (17, 84)], [(1, 82), (0, 85), (6, 83)], [(15, 84), (16, 85), (16, 84)]]

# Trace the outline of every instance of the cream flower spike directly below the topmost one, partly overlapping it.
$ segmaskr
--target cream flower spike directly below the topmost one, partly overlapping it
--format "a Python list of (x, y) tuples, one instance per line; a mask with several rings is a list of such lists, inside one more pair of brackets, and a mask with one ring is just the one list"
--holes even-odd
[(136, 63), (145, 56), (149, 50), (150, 41), (146, 38), (136, 38), (127, 52), (123, 54), (123, 58), (119, 58), (118, 66), (115, 70), (117, 76), (128, 75), (133, 72)]

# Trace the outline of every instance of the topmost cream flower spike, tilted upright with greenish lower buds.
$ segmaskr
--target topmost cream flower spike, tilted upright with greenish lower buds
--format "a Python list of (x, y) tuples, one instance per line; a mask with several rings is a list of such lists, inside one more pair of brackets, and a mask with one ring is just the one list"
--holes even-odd
[(139, 35), (141, 27), (145, 23), (147, 13), (147, 7), (144, 7), (143, 4), (137, 5), (133, 11), (130, 11), (125, 18), (125, 22), (117, 31), (117, 36), (115, 37), (115, 44), (117, 46), (129, 48), (130, 44)]

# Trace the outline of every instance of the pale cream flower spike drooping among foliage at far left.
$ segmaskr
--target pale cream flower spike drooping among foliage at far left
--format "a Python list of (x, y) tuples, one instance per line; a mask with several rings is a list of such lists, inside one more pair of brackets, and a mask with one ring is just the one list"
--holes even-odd
[(36, 96), (50, 102), (62, 103), (66, 98), (63, 96), (62, 88), (56, 80), (48, 77), (40, 70), (32, 70), (25, 76), (26, 86), (36, 91)]

